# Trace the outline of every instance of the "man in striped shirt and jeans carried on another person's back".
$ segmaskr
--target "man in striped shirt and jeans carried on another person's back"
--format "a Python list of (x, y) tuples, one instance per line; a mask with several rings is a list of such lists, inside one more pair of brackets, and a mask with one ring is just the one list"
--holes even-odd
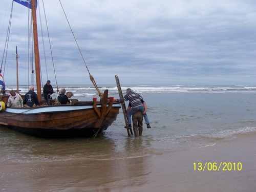
[(145, 114), (145, 109), (144, 105), (142, 104), (141, 100), (143, 98), (138, 94), (133, 92), (130, 88), (126, 89), (126, 95), (124, 95), (123, 98), (121, 98), (119, 101), (124, 102), (129, 100), (132, 108), (129, 110), (127, 113), (127, 121), (128, 121), (128, 126), (132, 127), (132, 118), (131, 116), (136, 112), (136, 111), (141, 111), (141, 113)]

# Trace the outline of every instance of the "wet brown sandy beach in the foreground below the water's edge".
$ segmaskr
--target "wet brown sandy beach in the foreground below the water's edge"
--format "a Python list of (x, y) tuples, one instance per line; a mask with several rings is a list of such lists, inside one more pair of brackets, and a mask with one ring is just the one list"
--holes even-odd
[[(0, 165), (1, 191), (255, 191), (256, 135), (217, 140), (213, 146), (167, 154), (119, 159)], [(172, 147), (172, 146), (170, 146)], [(204, 170), (195, 170), (202, 163)], [(208, 170), (212, 163), (231, 170)], [(242, 170), (234, 170), (241, 162)], [(202, 168), (203, 168), (202, 167)], [(226, 167), (228, 169), (228, 167)], [(238, 167), (237, 167), (238, 168)], [(240, 168), (240, 167), (239, 167)], [(230, 167), (229, 167), (230, 169)]]

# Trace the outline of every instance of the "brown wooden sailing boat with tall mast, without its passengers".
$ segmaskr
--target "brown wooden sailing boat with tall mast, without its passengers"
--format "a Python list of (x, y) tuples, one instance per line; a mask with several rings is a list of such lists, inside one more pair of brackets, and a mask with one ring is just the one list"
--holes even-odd
[[(31, 0), (37, 96), (41, 100), (39, 50), (35, 0)], [(22, 133), (39, 137), (92, 136), (106, 130), (116, 120), (121, 105), (108, 98), (96, 101), (73, 101), (72, 104), (39, 105), (34, 108), (6, 106), (7, 95), (0, 96), (0, 124)]]

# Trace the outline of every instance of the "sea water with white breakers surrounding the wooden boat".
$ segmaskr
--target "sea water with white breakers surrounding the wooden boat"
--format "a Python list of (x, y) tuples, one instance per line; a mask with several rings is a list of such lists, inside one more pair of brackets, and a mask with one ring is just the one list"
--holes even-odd
[[(99, 87), (102, 92), (109, 89), (109, 96), (119, 98), (116, 86)], [(61, 88), (72, 91), (73, 98), (79, 100), (98, 97), (92, 86)], [(0, 126), (0, 162), (146, 157), (215, 145), (221, 139), (256, 133), (256, 86), (125, 85), (123, 93), (127, 88), (139, 93), (147, 104), (152, 128), (146, 129), (144, 124), (141, 137), (127, 137), (121, 109), (117, 120), (97, 138), (43, 139)], [(28, 90), (27, 86), (19, 89), (21, 94)]]

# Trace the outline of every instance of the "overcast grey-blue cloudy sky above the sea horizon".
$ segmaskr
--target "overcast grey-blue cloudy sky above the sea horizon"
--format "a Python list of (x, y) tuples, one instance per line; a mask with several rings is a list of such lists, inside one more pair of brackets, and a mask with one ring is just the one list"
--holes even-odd
[[(11, 0), (1, 1), (1, 61), (11, 3)], [(256, 84), (254, 0), (61, 0), (61, 3), (98, 84), (115, 84), (115, 75), (121, 84)], [(57, 83), (90, 84), (59, 0), (45, 0), (44, 5)], [(41, 1), (38, 8), (37, 18), (44, 19)], [(16, 82), (16, 46), (20, 56), (19, 82), (28, 83), (27, 17), (26, 7), (14, 2), (4, 74), (6, 84)], [(45, 26), (44, 20), (41, 23)], [(39, 39), (40, 25), (38, 21)], [(42, 33), (48, 54), (48, 78), (55, 84), (49, 40), (45, 29)], [(39, 48), (42, 50), (43, 46), (40, 44)], [(41, 54), (40, 58), (42, 81), (46, 81), (45, 57)]]

